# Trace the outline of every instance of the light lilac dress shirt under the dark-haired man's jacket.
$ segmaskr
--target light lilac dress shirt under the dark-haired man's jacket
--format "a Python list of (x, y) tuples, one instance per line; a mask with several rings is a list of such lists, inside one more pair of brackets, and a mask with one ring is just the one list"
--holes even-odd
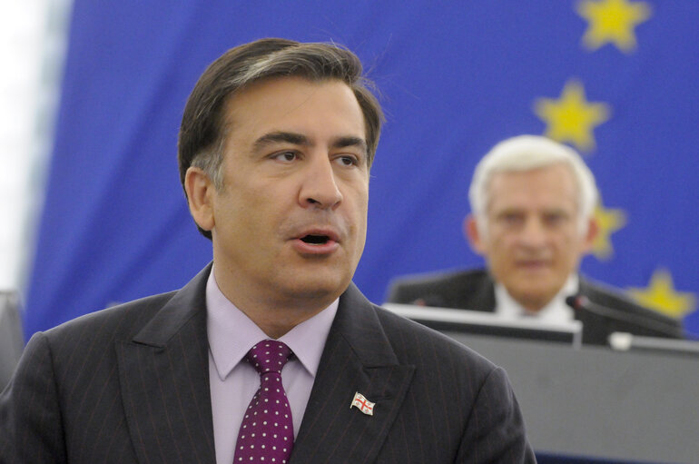
[[(260, 387), (260, 375), (243, 358), (255, 343), (270, 337), (223, 295), (213, 269), (206, 283), (206, 311), (216, 462), (231, 464), (243, 412)], [(338, 300), (278, 339), (296, 355), (281, 371), (294, 437), (299, 433), (320, 355), (337, 311)]]

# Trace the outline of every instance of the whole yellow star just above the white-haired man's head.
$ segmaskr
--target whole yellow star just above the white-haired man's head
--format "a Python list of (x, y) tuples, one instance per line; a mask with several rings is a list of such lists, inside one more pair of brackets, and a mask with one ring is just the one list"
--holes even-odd
[(558, 142), (571, 142), (584, 152), (595, 149), (592, 130), (609, 119), (608, 104), (588, 103), (585, 89), (576, 80), (570, 80), (563, 88), (560, 99), (537, 98), (534, 113), (546, 123), (548, 138)]

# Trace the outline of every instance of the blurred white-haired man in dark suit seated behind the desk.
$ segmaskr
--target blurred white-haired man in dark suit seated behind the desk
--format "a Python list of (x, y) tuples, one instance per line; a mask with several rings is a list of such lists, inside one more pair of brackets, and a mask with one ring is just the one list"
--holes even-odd
[[(680, 323), (578, 274), (595, 240), (595, 178), (573, 149), (545, 137), (507, 139), (477, 164), (464, 232), (486, 270), (391, 282), (388, 301), (541, 321), (583, 322), (583, 342), (606, 344), (613, 331), (682, 336)], [(574, 311), (566, 297), (583, 295)]]

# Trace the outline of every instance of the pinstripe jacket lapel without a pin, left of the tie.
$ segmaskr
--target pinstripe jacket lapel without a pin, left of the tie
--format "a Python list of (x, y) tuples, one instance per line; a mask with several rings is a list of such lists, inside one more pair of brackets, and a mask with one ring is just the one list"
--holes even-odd
[(211, 265), (117, 349), (123, 407), (142, 463), (213, 464), (205, 287)]

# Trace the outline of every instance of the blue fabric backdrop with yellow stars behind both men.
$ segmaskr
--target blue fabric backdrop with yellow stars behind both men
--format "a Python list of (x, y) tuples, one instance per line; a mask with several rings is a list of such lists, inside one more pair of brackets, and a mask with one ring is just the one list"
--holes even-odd
[(282, 36), (348, 45), (381, 90), (355, 276), (370, 300), (399, 274), (480, 265), (461, 232), (477, 160), (547, 133), (603, 194), (586, 275), (699, 332), (698, 20), (681, 0), (76, 0), (25, 331), (179, 288), (211, 260), (178, 180), (182, 108), (226, 49)]

